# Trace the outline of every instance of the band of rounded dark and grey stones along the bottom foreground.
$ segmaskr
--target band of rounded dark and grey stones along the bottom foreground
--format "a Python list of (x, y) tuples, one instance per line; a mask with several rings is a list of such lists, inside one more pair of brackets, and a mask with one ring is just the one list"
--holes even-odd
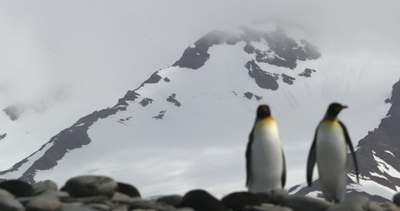
[(396, 211), (400, 194), (393, 202), (377, 203), (366, 196), (351, 196), (341, 203), (302, 195), (290, 195), (284, 189), (262, 193), (228, 193), (221, 199), (204, 190), (188, 191), (184, 196), (167, 195), (141, 198), (131, 184), (103, 176), (80, 176), (58, 188), (53, 181), (28, 184), (20, 180), (0, 183), (0, 210), (4, 211)]

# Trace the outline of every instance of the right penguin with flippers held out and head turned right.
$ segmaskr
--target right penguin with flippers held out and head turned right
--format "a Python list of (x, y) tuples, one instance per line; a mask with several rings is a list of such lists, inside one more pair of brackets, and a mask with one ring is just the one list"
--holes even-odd
[(307, 183), (311, 186), (314, 165), (318, 165), (321, 191), (325, 200), (339, 203), (344, 198), (347, 185), (347, 146), (351, 152), (359, 183), (359, 166), (347, 128), (337, 115), (347, 106), (331, 103), (318, 124), (307, 162)]

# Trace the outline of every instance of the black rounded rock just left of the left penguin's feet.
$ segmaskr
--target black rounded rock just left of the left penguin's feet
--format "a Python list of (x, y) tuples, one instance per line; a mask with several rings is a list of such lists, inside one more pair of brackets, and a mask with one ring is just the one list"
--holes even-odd
[(242, 211), (246, 205), (261, 205), (259, 198), (254, 193), (249, 192), (231, 193), (222, 198), (221, 202), (233, 211)]

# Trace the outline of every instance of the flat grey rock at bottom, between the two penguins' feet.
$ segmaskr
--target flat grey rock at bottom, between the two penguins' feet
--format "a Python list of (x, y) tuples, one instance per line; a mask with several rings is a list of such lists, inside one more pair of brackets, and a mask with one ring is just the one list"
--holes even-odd
[(333, 203), (318, 198), (291, 195), (284, 197), (280, 205), (283, 207), (290, 207), (292, 210), (296, 211), (323, 211), (333, 205)]

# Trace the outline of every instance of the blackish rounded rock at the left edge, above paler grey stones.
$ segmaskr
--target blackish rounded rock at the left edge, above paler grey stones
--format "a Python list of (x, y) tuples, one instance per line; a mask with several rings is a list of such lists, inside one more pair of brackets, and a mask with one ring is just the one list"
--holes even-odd
[(16, 179), (3, 181), (0, 183), (0, 188), (7, 190), (15, 197), (34, 196), (34, 190), (32, 186), (25, 181)]

